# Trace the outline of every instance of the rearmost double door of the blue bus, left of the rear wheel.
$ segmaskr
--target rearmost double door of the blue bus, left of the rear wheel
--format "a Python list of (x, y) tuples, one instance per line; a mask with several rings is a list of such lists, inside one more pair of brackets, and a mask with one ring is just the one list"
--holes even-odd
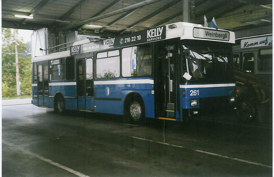
[(48, 64), (38, 65), (38, 106), (49, 106)]

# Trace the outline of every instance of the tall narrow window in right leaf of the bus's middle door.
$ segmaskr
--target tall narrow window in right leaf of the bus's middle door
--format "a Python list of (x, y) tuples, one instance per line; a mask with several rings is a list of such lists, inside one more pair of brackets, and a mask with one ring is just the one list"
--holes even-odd
[(93, 62), (92, 58), (86, 60), (86, 95), (93, 96)]

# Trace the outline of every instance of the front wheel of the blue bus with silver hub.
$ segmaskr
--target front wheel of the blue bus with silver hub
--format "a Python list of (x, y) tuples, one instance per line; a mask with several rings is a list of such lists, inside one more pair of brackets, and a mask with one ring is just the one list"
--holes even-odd
[(129, 121), (134, 124), (144, 125), (145, 123), (145, 109), (142, 101), (134, 99), (130, 101), (129, 106), (127, 107), (127, 114), (125, 118), (126, 121)]

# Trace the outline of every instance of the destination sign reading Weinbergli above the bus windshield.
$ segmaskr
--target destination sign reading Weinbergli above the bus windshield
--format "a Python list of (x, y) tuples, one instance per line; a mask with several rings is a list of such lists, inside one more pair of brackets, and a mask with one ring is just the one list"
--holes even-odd
[(210, 30), (205, 28), (193, 28), (193, 37), (229, 41), (229, 32), (221, 30)]

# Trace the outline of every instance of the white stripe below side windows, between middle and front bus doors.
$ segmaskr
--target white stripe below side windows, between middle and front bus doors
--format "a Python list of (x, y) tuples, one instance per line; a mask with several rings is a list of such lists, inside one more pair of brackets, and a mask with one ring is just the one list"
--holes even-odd
[(154, 84), (154, 80), (152, 80), (152, 79), (130, 79), (130, 80), (94, 81), (94, 85), (109, 85), (109, 84)]

